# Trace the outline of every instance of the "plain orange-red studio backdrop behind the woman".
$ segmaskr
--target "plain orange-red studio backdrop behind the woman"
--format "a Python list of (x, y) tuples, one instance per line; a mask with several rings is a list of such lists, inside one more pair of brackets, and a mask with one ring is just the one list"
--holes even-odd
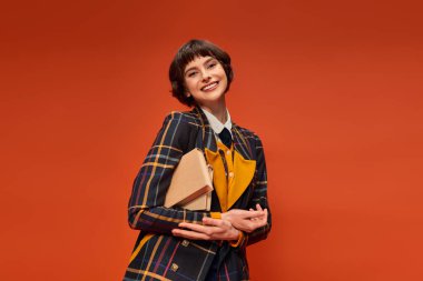
[(253, 280), (423, 280), (423, 36), (411, 1), (9, 1), (0, 7), (0, 280), (121, 280), (132, 180), (180, 44), (232, 58), (264, 142)]

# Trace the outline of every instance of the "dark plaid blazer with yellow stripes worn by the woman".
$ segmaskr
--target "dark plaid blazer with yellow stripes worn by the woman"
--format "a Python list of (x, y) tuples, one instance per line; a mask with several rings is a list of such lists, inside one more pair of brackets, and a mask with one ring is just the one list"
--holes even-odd
[[(267, 174), (262, 141), (257, 134), (233, 123), (234, 149), (245, 159), (256, 161), (253, 180), (230, 209), (267, 208)], [(134, 181), (128, 204), (128, 220), (139, 230), (124, 280), (249, 280), (246, 245), (266, 239), (272, 227), (244, 233), (243, 241), (232, 247), (227, 241), (203, 241), (176, 238), (171, 230), (186, 221), (201, 223), (206, 211), (165, 208), (165, 197), (173, 172), (183, 154), (194, 148), (216, 151), (217, 144), (208, 120), (200, 108), (168, 114)], [(216, 192), (212, 212), (219, 212)], [(214, 277), (212, 277), (210, 272)]]

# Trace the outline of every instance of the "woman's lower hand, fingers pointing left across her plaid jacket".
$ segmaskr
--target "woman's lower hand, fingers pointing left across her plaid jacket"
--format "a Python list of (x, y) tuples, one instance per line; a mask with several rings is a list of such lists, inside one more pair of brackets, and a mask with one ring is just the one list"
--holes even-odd
[[(183, 237), (193, 240), (237, 240), (239, 230), (235, 229), (229, 221), (203, 218), (203, 225), (189, 222), (181, 222), (179, 228), (173, 229), (175, 237)], [(186, 230), (187, 229), (187, 230)]]

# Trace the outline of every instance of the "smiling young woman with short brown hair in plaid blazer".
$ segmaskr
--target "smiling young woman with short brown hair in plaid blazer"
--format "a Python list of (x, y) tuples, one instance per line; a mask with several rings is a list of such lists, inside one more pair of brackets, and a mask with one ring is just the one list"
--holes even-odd
[[(124, 280), (249, 280), (246, 247), (267, 237), (267, 173), (257, 134), (234, 123), (225, 97), (230, 57), (190, 40), (169, 69), (173, 96), (193, 107), (165, 118), (129, 200), (140, 230)], [(198, 148), (214, 168), (210, 211), (165, 208), (180, 158)]]

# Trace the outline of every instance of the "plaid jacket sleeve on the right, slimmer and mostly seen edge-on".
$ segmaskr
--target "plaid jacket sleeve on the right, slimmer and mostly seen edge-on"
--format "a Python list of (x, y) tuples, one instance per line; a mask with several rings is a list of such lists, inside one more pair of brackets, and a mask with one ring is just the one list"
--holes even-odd
[(249, 202), (249, 208), (256, 209), (256, 204), (260, 204), (263, 209), (267, 208), (268, 217), (267, 217), (267, 224), (254, 230), (250, 233), (245, 234), (245, 241), (243, 242), (246, 245), (256, 243), (260, 240), (264, 240), (267, 238), (267, 234), (269, 233), (272, 229), (272, 214), (269, 204), (267, 201), (267, 171), (266, 171), (266, 161), (265, 161), (265, 154), (263, 149), (262, 140), (258, 138), (257, 134), (254, 134), (256, 139), (256, 161), (257, 161), (257, 171), (255, 177), (255, 189), (252, 197), (252, 200)]

